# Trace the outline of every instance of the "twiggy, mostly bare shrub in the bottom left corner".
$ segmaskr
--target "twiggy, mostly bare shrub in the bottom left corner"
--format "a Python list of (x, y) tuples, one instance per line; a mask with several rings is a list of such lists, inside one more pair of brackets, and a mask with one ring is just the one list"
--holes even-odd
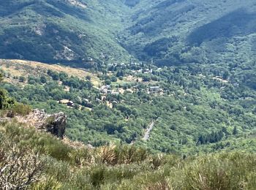
[(1, 144), (0, 186), (1, 189), (27, 189), (42, 175), (44, 163), (39, 154), (17, 145)]

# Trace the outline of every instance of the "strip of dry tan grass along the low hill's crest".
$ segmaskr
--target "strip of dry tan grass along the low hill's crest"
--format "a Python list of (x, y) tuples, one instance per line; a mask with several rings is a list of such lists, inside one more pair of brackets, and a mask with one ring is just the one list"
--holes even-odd
[(99, 78), (94, 74), (86, 72), (83, 69), (75, 69), (69, 66), (43, 64), (36, 61), (24, 61), (16, 59), (0, 59), (0, 66), (1, 69), (9, 72), (12, 76), (38, 75), (39, 73), (45, 73), (48, 71), (48, 69), (51, 69), (56, 72), (66, 72), (69, 76), (79, 77), (80, 79), (85, 79), (86, 76), (90, 76), (91, 83), (93, 83), (93, 85), (96, 87), (101, 83)]

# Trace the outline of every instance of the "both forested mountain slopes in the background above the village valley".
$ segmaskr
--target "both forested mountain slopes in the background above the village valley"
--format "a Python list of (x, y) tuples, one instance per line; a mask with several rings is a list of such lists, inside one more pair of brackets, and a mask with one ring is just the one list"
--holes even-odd
[(11, 0), (0, 4), (1, 58), (89, 67), (254, 61), (252, 0)]

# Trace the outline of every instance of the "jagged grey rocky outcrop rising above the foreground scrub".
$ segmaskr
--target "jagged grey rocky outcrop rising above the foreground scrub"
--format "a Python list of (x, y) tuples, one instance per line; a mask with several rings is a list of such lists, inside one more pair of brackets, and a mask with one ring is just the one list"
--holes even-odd
[(67, 115), (62, 112), (51, 115), (45, 113), (45, 110), (33, 110), (25, 117), (16, 116), (15, 118), (17, 118), (20, 123), (34, 126), (42, 132), (50, 132), (61, 139), (64, 137), (67, 126)]

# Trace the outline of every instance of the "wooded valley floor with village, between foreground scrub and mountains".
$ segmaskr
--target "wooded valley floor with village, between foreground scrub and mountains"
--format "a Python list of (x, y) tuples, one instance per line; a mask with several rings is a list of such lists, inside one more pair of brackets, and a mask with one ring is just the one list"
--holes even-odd
[[(7, 79), (1, 86), (18, 102), (67, 114), (72, 140), (185, 155), (255, 151), (255, 64), (116, 64), (97, 75), (72, 69), (78, 76), (62, 66), (2, 63)], [(26, 70), (31, 75), (20, 75)]]

